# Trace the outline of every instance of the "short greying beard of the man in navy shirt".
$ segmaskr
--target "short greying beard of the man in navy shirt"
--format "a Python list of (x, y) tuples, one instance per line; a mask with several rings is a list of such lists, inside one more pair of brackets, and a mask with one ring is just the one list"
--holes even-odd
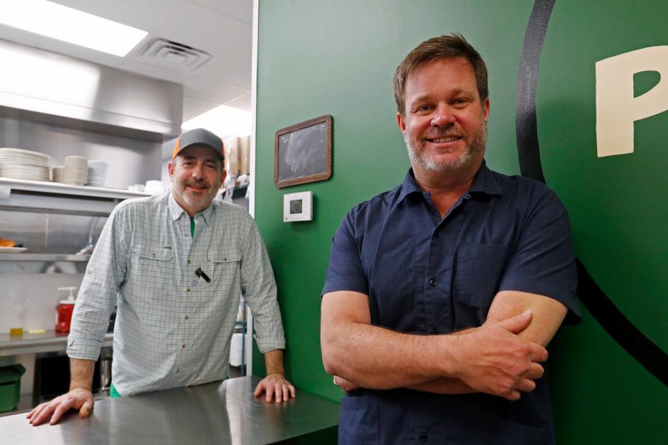
[[(454, 124), (450, 124), (447, 127), (442, 129), (436, 129), (436, 131), (426, 131), (420, 135), (418, 140), (413, 140), (408, 138), (408, 135), (404, 136), (404, 141), (406, 142), (406, 147), (408, 148), (408, 157), (411, 159), (411, 164), (418, 165), (423, 170), (430, 172), (447, 172), (453, 170), (459, 170), (465, 165), (468, 165), (475, 159), (475, 157), (482, 153), (487, 145), (487, 122), (482, 122), (480, 127), (474, 133), (468, 133), (463, 129), (456, 129), (453, 131)], [(451, 136), (452, 133), (462, 136), (466, 140), (466, 147), (464, 147), (463, 152), (459, 156), (447, 157), (445, 159), (437, 160), (436, 156), (427, 152), (424, 149), (424, 140), (434, 139), (434, 138), (445, 138)], [(444, 149), (439, 150), (437, 154), (445, 154), (450, 150)]]

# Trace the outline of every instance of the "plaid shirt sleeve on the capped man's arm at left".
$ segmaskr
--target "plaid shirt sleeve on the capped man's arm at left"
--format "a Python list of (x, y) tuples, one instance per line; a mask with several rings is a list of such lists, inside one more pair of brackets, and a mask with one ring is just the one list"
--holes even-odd
[(88, 261), (67, 337), (67, 355), (71, 358), (97, 360), (100, 356), (109, 316), (125, 280), (132, 236), (132, 225), (125, 221), (128, 213), (122, 204), (111, 213)]

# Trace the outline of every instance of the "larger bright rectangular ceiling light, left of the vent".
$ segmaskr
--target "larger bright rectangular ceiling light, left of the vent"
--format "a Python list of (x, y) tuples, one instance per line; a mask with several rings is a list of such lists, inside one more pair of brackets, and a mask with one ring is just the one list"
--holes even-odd
[(141, 29), (46, 0), (4, 3), (0, 23), (120, 57), (148, 35)]

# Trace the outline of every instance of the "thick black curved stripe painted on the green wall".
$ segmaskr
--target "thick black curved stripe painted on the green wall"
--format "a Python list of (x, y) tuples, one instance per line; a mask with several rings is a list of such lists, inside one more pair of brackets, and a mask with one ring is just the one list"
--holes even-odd
[[(555, 0), (535, 0), (517, 75), (515, 130), (520, 172), (545, 182), (536, 126), (536, 87), (550, 14)], [(578, 259), (578, 298), (610, 337), (644, 368), (668, 385), (668, 355), (638, 330), (596, 284)]]

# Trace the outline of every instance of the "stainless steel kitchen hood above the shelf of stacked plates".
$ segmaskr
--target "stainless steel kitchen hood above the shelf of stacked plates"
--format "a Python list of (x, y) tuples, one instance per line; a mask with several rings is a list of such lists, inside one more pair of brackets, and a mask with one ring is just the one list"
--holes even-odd
[[(175, 136), (183, 86), (0, 40), (0, 108), (65, 126)], [(127, 131), (126, 131), (127, 130)]]

